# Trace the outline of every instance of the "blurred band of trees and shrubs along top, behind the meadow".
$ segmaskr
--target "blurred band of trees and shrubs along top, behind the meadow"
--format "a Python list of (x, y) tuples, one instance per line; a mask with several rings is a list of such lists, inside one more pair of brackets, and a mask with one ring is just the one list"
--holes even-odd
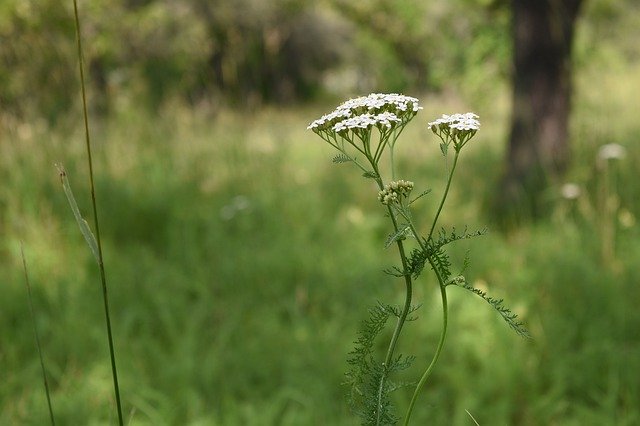
[[(592, 0), (580, 49), (638, 19), (632, 0)], [(96, 112), (114, 102), (256, 106), (322, 93), (445, 90), (478, 98), (510, 73), (505, 0), (92, 0), (80, 2)], [(637, 15), (637, 14), (636, 14)], [(3, 112), (50, 122), (77, 99), (72, 2), (0, 6)], [(613, 25), (613, 22), (616, 25)], [(613, 37), (619, 40), (620, 37)], [(633, 40), (620, 52), (637, 56)], [(582, 56), (581, 56), (582, 57)]]

